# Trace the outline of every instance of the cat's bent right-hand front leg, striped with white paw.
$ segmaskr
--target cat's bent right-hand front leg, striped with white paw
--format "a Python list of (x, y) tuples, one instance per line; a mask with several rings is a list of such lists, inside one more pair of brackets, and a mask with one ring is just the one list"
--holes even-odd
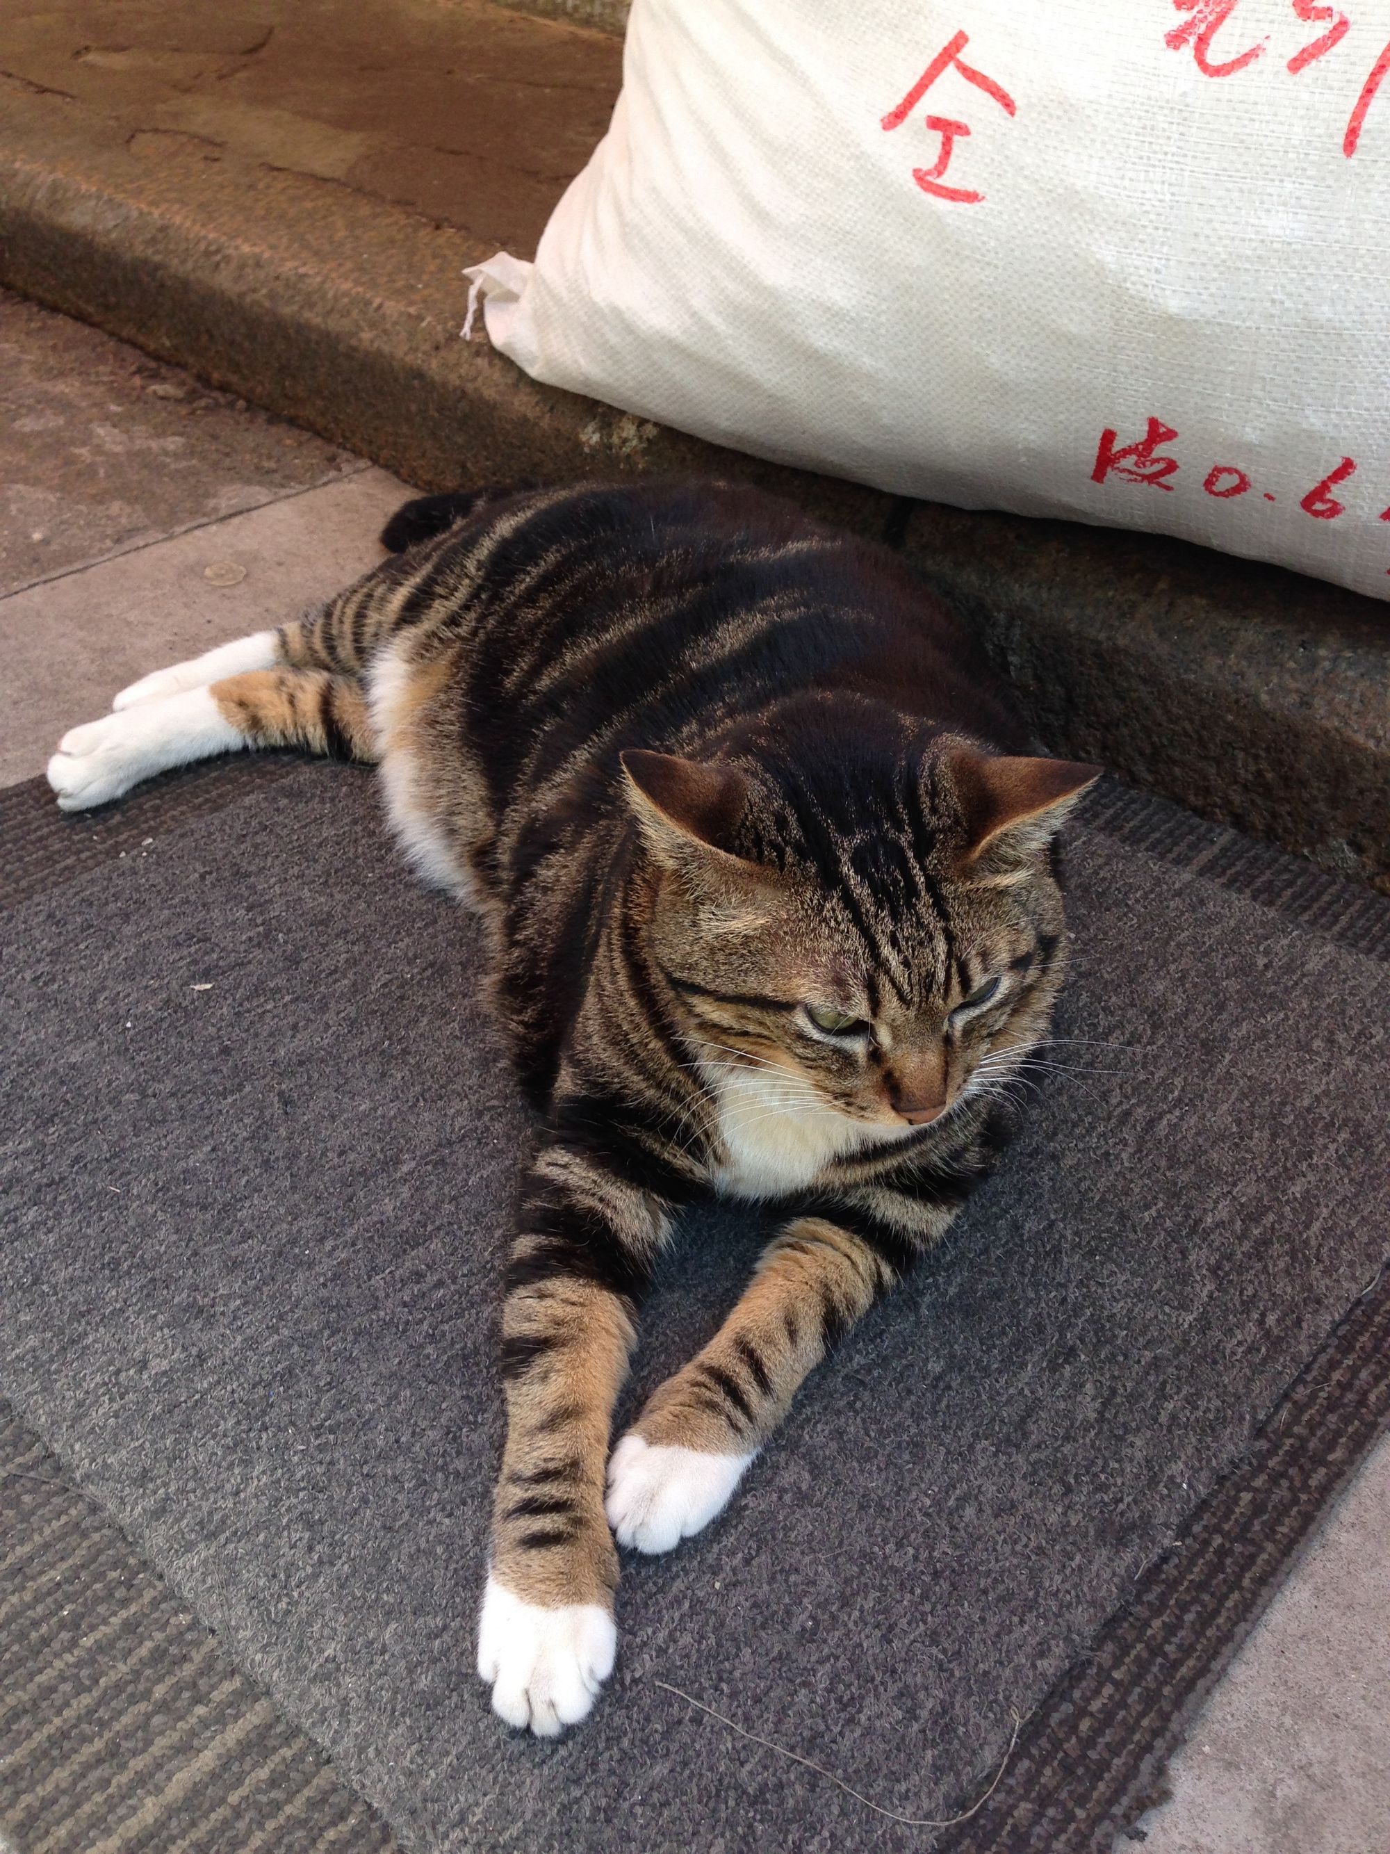
[(608, 1465), (619, 1544), (669, 1552), (706, 1526), (806, 1374), (949, 1222), (873, 1196), (790, 1224), (710, 1344), (652, 1394)]

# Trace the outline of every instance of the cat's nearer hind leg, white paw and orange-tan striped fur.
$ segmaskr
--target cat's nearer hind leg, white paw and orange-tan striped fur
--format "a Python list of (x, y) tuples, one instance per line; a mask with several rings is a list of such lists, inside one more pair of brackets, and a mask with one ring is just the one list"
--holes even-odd
[(300, 747), (337, 760), (378, 758), (376, 730), (356, 677), (326, 669), (248, 669), (206, 686), (132, 701), (100, 721), (70, 729), (48, 762), (48, 784), (61, 810), (89, 810), (171, 766), (239, 747)]

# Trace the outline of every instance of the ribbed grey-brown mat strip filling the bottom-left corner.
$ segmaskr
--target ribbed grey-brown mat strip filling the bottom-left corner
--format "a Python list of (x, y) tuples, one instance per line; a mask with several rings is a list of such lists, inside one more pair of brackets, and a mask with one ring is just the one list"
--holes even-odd
[(0, 1511), (0, 1847), (397, 1854), (6, 1403)]

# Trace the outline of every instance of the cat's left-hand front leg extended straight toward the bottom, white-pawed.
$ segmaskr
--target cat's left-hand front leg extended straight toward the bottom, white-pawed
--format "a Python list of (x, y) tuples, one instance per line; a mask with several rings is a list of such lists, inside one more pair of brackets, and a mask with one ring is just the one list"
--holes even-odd
[(537, 1157), (523, 1205), (502, 1305), (508, 1431), (478, 1674), (508, 1724), (554, 1737), (586, 1717), (613, 1667), (604, 1461), (667, 1218), (565, 1146)]

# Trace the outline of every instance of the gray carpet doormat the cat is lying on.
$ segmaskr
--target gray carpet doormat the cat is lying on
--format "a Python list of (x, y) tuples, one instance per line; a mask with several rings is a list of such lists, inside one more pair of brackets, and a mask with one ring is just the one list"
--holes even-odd
[[(1103, 794), (1056, 1029), (1097, 1042), (721, 1522), (628, 1567), (610, 1695), (541, 1746), (471, 1670), (528, 1137), (476, 933), (367, 777), (234, 779), (120, 842), (15, 801), (69, 849), (7, 918), (0, 1390), (410, 1847), (1103, 1847), (1383, 1420), (1390, 907)], [(760, 1237), (689, 1220), (632, 1402)], [(1327, 1472), (1305, 1378), (1271, 1476), (1340, 1320)], [(917, 1821), (1003, 1778), (904, 1826), (673, 1687)]]

